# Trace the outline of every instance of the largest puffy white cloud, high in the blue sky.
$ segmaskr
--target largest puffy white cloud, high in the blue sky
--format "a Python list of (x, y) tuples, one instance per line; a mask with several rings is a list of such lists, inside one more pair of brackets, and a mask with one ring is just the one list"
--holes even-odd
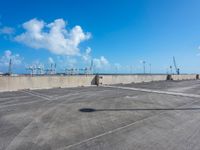
[(32, 19), (23, 24), (25, 32), (15, 37), (15, 40), (34, 49), (47, 49), (57, 55), (79, 55), (79, 44), (90, 39), (91, 34), (83, 32), (80, 26), (66, 29), (63, 19), (52, 23)]

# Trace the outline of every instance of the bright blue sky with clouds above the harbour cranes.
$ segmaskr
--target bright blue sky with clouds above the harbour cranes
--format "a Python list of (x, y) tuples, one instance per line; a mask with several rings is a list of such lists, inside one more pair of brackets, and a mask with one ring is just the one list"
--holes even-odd
[[(199, 6), (199, 0), (1, 0), (0, 72), (11, 57), (18, 73), (29, 65), (48, 67), (50, 61), (60, 71), (85, 67), (91, 59), (98, 72), (142, 72), (145, 60), (147, 70), (151, 63), (152, 72), (166, 73), (173, 56), (182, 73), (200, 72)], [(72, 40), (65, 49), (59, 49), (62, 40), (50, 43), (56, 19), (66, 24), (63, 42)], [(48, 33), (43, 41), (32, 39), (23, 25), (30, 29), (38, 22), (43, 22), (41, 34)], [(74, 35), (78, 43), (70, 34), (77, 25), (82, 30)]]

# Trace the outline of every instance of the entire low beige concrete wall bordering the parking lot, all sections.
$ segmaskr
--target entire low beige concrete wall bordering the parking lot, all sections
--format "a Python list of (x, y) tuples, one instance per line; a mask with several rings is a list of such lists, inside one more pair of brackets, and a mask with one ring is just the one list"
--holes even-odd
[[(172, 75), (173, 80), (196, 79), (192, 75)], [(167, 80), (167, 75), (99, 75), (99, 84), (128, 84)], [(0, 77), (0, 92), (23, 89), (50, 89), (95, 85), (95, 75), (73, 76), (2, 76)]]

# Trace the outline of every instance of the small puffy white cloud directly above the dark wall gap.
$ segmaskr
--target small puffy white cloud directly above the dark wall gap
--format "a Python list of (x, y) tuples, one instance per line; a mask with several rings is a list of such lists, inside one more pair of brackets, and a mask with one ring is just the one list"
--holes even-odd
[(109, 66), (109, 61), (104, 57), (101, 56), (100, 58), (94, 58), (94, 67), (97, 69), (103, 69)]

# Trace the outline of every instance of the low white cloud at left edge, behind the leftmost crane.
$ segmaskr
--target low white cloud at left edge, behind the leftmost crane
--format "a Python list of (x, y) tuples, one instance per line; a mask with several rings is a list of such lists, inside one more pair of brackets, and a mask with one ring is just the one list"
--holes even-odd
[(4, 55), (0, 57), (0, 66), (8, 66), (10, 59), (12, 60), (12, 65), (20, 65), (23, 61), (19, 54), (12, 54), (10, 50), (6, 50)]

